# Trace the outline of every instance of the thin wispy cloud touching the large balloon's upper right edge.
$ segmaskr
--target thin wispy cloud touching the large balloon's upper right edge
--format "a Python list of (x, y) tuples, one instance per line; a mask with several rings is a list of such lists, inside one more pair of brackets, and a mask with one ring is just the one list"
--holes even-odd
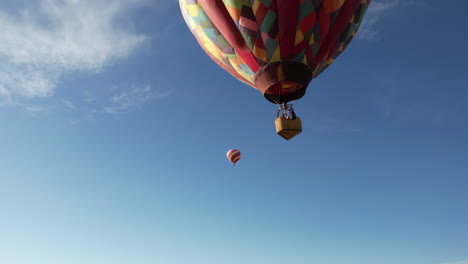
[(375, 40), (378, 37), (379, 23), (399, 7), (424, 5), (418, 0), (373, 0), (359, 29), (358, 38)]

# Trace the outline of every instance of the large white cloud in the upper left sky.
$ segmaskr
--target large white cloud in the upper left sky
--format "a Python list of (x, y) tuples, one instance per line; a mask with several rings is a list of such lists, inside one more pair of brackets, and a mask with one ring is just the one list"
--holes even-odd
[(16, 16), (0, 11), (0, 102), (50, 96), (63, 74), (130, 55), (146, 37), (116, 22), (136, 2), (40, 0)]

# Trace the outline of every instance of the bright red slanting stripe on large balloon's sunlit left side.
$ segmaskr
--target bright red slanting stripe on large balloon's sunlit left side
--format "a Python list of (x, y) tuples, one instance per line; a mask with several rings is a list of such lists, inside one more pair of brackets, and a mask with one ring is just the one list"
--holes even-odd
[(239, 56), (249, 66), (253, 72), (257, 72), (260, 66), (257, 60), (250, 51), (249, 46), (245, 43), (236, 24), (232, 21), (232, 17), (226, 9), (222, 0), (199, 0), (198, 3), (202, 6), (211, 22), (237, 51)]

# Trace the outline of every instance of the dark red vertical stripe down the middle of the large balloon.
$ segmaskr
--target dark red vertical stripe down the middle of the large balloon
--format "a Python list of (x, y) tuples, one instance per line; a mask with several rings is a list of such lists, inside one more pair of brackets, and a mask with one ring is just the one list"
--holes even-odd
[(296, 41), (299, 0), (276, 0), (278, 12), (278, 39), (281, 59), (290, 60), (294, 54)]

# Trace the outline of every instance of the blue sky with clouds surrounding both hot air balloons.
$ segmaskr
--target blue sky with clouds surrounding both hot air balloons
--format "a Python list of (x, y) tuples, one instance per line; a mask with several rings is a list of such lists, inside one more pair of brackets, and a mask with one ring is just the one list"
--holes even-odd
[(0, 262), (467, 264), (468, 3), (447, 4), (374, 0), (285, 141), (177, 1), (2, 1)]

